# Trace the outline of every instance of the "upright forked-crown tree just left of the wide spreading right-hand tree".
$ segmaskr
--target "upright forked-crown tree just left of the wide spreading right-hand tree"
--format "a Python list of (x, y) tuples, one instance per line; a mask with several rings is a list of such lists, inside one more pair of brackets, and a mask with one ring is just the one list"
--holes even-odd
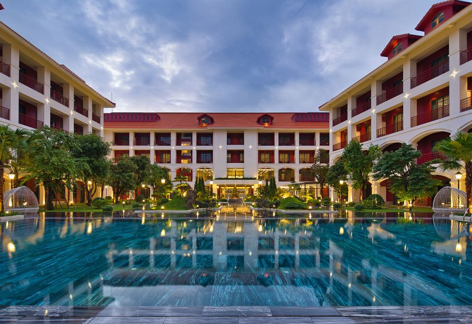
[(369, 182), (370, 174), (375, 162), (380, 158), (381, 150), (378, 145), (369, 145), (367, 151), (362, 150), (362, 144), (352, 140), (344, 148), (344, 168), (351, 177), (354, 190), (360, 189), (360, 199)]

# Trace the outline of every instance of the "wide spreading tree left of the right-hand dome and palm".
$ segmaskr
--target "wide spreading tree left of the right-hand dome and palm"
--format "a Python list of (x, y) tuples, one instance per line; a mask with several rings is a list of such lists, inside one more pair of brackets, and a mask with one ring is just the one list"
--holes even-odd
[(431, 164), (439, 160), (416, 164), (421, 152), (413, 148), (412, 144), (403, 143), (396, 151), (385, 152), (374, 166), (374, 179), (388, 179), (390, 191), (401, 200), (410, 203), (410, 211), (415, 201), (423, 200), (436, 193), (439, 180), (435, 180), (431, 173), (436, 170)]

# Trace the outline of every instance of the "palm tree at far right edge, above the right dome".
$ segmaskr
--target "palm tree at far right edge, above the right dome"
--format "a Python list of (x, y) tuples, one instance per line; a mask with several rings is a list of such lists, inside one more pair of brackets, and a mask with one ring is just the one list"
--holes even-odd
[[(472, 214), (472, 134), (457, 132), (438, 142), (433, 149), (445, 158), (442, 170), (466, 170), (466, 195), (469, 214)], [(464, 165), (463, 165), (463, 164)]]

